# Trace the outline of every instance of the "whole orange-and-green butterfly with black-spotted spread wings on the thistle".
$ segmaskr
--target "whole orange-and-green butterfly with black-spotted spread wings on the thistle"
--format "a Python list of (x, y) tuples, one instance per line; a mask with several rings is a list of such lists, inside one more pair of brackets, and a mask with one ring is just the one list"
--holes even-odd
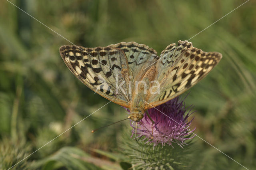
[(86, 48), (63, 45), (60, 55), (70, 71), (87, 87), (130, 110), (139, 122), (147, 109), (184, 93), (202, 80), (222, 58), (191, 42), (178, 41), (156, 50), (136, 42)]

